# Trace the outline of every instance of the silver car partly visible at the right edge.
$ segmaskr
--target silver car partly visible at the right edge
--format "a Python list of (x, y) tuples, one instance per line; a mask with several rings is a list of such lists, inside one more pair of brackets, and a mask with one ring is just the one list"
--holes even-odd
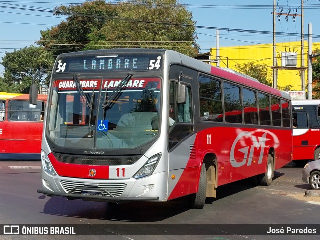
[(302, 170), (302, 181), (320, 189), (320, 160), (308, 162)]

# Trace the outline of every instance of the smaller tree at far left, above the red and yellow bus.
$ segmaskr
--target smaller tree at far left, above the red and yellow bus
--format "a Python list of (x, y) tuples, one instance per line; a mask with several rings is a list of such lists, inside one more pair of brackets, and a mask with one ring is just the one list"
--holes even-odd
[[(53, 68), (54, 59), (43, 47), (25, 47), (14, 52), (7, 52), (2, 57), (4, 82), (16, 92), (28, 93), (32, 77), (37, 71)], [(49, 83), (44, 78), (41, 85)]]

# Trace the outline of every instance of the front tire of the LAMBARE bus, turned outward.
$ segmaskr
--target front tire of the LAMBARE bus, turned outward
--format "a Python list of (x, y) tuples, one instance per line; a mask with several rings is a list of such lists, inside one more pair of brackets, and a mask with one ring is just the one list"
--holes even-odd
[(202, 209), (205, 204), (206, 197), (206, 168), (205, 163), (202, 163), (198, 192), (191, 194), (190, 196), (190, 207), (194, 209)]

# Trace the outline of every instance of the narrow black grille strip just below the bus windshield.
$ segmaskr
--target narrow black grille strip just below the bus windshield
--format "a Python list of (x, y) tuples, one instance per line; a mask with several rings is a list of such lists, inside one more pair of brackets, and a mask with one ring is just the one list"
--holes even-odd
[(77, 156), (61, 153), (53, 153), (54, 157), (61, 163), (72, 163), (95, 166), (130, 165), (139, 160), (138, 157), (109, 157), (109, 156)]

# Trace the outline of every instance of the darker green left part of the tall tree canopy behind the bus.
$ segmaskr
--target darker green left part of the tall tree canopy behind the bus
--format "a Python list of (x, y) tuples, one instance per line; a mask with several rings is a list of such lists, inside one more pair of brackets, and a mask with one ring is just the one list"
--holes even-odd
[(41, 31), (38, 44), (56, 57), (61, 53), (81, 51), (89, 43), (88, 34), (92, 29), (100, 29), (107, 17), (115, 17), (116, 5), (103, 0), (87, 1), (81, 5), (59, 6), (54, 15), (68, 16), (58, 26)]

